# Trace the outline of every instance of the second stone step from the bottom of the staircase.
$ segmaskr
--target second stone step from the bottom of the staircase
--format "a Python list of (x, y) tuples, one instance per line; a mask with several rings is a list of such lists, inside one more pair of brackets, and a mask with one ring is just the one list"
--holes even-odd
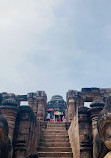
[(39, 147), (41, 152), (72, 152), (70, 147)]

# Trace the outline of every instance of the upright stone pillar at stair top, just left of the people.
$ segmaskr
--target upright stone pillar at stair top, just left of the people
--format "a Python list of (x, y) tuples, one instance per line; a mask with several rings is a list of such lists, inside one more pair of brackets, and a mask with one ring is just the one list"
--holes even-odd
[(36, 99), (38, 103), (37, 119), (44, 121), (46, 117), (47, 95), (44, 91), (37, 91)]

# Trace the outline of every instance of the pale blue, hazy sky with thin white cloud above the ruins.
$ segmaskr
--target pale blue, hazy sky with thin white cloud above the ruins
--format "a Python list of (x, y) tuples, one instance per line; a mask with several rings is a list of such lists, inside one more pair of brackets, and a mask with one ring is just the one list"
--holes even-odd
[(111, 0), (0, 0), (0, 91), (111, 87)]

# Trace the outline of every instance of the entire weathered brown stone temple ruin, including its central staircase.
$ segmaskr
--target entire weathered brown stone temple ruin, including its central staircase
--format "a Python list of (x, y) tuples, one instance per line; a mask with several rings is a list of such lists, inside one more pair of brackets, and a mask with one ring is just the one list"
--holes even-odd
[(62, 99), (47, 103), (44, 91), (0, 93), (0, 158), (111, 158), (111, 88), (69, 90), (61, 107), (66, 120), (47, 122), (55, 98)]

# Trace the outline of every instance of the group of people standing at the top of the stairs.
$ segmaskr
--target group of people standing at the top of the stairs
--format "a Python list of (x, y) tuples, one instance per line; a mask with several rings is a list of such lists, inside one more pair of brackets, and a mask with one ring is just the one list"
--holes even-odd
[(46, 120), (47, 121), (50, 121), (50, 122), (66, 122), (66, 118), (65, 118), (65, 116), (52, 116), (51, 114), (50, 114), (50, 112), (48, 112), (47, 113), (47, 115), (46, 115)]

